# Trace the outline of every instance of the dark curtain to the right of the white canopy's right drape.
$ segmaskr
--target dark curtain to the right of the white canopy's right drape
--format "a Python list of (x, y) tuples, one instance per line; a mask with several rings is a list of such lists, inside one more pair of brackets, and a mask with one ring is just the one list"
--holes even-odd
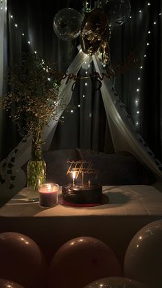
[[(114, 27), (111, 35), (112, 66), (125, 66), (123, 73), (117, 73), (115, 87), (137, 131), (161, 159), (162, 1), (132, 0), (130, 3), (131, 19), (121, 27)], [(128, 61), (127, 69), (131, 54), (139, 61)]]

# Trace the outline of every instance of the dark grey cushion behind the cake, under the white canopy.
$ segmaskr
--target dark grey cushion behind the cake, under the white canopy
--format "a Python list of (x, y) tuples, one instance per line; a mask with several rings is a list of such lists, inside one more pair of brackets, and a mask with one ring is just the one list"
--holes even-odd
[(71, 174), (67, 175), (68, 159), (75, 161), (84, 159), (99, 170), (97, 179), (94, 174), (85, 174), (85, 182), (90, 179), (91, 183), (102, 185), (150, 185), (155, 181), (152, 172), (128, 153), (106, 154), (76, 148), (47, 151), (44, 153), (44, 158), (47, 164), (47, 181), (59, 185), (72, 183)]

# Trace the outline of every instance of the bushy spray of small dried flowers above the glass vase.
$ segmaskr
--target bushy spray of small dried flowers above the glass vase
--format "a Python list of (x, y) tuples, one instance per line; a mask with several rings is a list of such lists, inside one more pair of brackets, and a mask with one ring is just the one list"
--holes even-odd
[(50, 120), (58, 120), (58, 111), (65, 109), (50, 72), (53, 67), (37, 54), (24, 54), (20, 65), (9, 68), (10, 92), (1, 98), (0, 107), (10, 111), (23, 137), (30, 133), (40, 139), (44, 127)]

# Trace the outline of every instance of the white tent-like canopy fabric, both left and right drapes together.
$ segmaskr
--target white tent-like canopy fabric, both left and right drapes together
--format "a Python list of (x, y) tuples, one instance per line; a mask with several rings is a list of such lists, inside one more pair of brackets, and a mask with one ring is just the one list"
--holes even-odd
[[(76, 58), (74, 58), (73, 62), (69, 66), (67, 70), (67, 74), (78, 74), (80, 67), (82, 64), (89, 58), (86, 54), (82, 52), (78, 52)], [(105, 73), (100, 60), (97, 58), (97, 55), (93, 56), (93, 63), (95, 65), (95, 70), (102, 76), (102, 73)], [(71, 79), (66, 84), (67, 79), (63, 79), (60, 85), (60, 105), (62, 101), (66, 104), (69, 104), (72, 96), (71, 87), (73, 85), (74, 80)], [(144, 165), (148, 166), (156, 175), (161, 177), (161, 171), (159, 167), (161, 167), (161, 163), (156, 163), (154, 158), (154, 154), (150, 151), (150, 148), (146, 148), (145, 142), (142, 137), (137, 133), (132, 120), (128, 116), (125, 107), (122, 105), (122, 102), (119, 100), (119, 96), (115, 89), (112, 87), (111, 80), (109, 78), (104, 77), (102, 80), (101, 87), (102, 98), (104, 101), (104, 107), (106, 110), (106, 115), (108, 118), (108, 124), (111, 130), (111, 137), (113, 140), (113, 144), (115, 147), (115, 151), (130, 151), (133, 155), (135, 155), (140, 162)], [(63, 110), (59, 111), (58, 118), (62, 115)], [(56, 131), (56, 126), (58, 121), (51, 121), (49, 126), (45, 128), (43, 133), (43, 141), (45, 142), (45, 150), (48, 150), (49, 145), (51, 143), (51, 139)], [(15, 156), (15, 166), (21, 168), (28, 159), (30, 159), (30, 151), (31, 151), (31, 143), (32, 139), (29, 137), (27, 142), (21, 142), (16, 148), (18, 152)], [(8, 155), (8, 159), (13, 156), (14, 150)], [(4, 162), (4, 161), (3, 161)], [(3, 165), (1, 162), (0, 169)]]

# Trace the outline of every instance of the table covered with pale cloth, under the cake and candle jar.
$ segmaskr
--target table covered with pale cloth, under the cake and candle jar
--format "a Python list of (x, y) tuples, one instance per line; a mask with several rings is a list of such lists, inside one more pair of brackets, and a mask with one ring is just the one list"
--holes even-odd
[(30, 236), (43, 249), (48, 261), (58, 248), (78, 236), (104, 241), (121, 264), (132, 236), (144, 225), (162, 219), (162, 193), (152, 186), (104, 186), (110, 202), (91, 208), (58, 204), (43, 209), (27, 202), (23, 188), (0, 209), (0, 232)]

